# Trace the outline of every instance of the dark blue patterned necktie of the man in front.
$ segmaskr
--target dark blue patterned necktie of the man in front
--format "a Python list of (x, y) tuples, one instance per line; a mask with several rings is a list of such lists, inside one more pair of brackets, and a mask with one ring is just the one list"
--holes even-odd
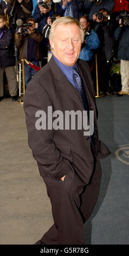
[[(84, 87), (83, 82), (81, 80), (81, 77), (80, 77), (80, 75), (78, 73), (78, 70), (77, 70), (77, 68), (75, 66), (73, 67), (73, 81), (75, 83), (76, 88), (80, 92), (82, 103), (83, 103), (83, 107), (87, 111), (88, 119), (89, 119), (90, 108), (89, 108), (89, 104), (88, 104), (88, 100), (87, 100), (87, 96), (86, 96), (85, 87)], [(90, 137), (91, 137), (91, 142), (94, 145), (94, 134), (91, 135)]]

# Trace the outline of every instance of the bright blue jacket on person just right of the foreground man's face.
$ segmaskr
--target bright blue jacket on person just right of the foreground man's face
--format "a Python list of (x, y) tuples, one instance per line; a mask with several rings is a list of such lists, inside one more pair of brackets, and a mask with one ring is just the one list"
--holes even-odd
[(86, 41), (87, 44), (85, 45), (85, 47), (82, 48), (79, 59), (88, 61), (93, 58), (93, 50), (99, 48), (100, 41), (98, 35), (93, 30), (91, 30), (91, 33)]

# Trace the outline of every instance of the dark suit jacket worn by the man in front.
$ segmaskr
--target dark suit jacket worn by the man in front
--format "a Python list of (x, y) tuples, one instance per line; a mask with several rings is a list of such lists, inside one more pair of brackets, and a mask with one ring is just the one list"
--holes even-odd
[[(109, 155), (109, 150), (104, 143), (99, 143), (98, 139), (97, 112), (91, 74), (87, 63), (81, 59), (78, 60), (78, 68), (85, 85), (89, 106), (94, 111), (94, 155), (104, 158)], [(94, 168), (94, 156), (89, 136), (84, 136), (83, 130), (36, 130), (35, 113), (38, 110), (47, 113), (48, 106), (52, 106), (53, 111), (61, 110), (62, 112), (85, 110), (80, 93), (67, 80), (53, 57), (34, 76), (24, 95), (29, 146), (33, 151), (41, 176), (48, 175), (50, 178), (59, 180), (70, 171), (71, 179), (76, 173), (83, 184), (88, 184)]]

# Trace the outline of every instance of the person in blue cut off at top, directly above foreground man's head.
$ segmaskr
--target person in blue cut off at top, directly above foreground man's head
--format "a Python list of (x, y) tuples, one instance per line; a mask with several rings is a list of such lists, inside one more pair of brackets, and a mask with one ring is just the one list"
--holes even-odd
[(82, 0), (61, 0), (60, 5), (61, 10), (63, 12), (63, 16), (74, 17), (77, 20), (82, 16)]

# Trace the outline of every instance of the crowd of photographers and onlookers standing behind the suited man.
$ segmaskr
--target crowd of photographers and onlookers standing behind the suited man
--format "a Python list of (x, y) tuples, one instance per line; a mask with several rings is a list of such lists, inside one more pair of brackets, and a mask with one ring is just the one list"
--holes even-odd
[[(95, 55), (98, 59), (100, 94), (111, 95), (110, 78), (113, 61), (120, 63), (121, 89), (117, 94), (129, 95), (129, 0), (2, 0), (0, 2), (0, 101), (4, 98), (4, 74), (12, 101), (18, 99), (15, 74), (16, 45), (18, 62), (27, 59), (36, 66), (51, 58), (50, 28), (61, 16), (78, 19), (85, 32), (80, 59), (91, 69), (96, 85)], [(32, 14), (33, 13), (33, 14)], [(36, 74), (28, 64), (25, 87)]]

